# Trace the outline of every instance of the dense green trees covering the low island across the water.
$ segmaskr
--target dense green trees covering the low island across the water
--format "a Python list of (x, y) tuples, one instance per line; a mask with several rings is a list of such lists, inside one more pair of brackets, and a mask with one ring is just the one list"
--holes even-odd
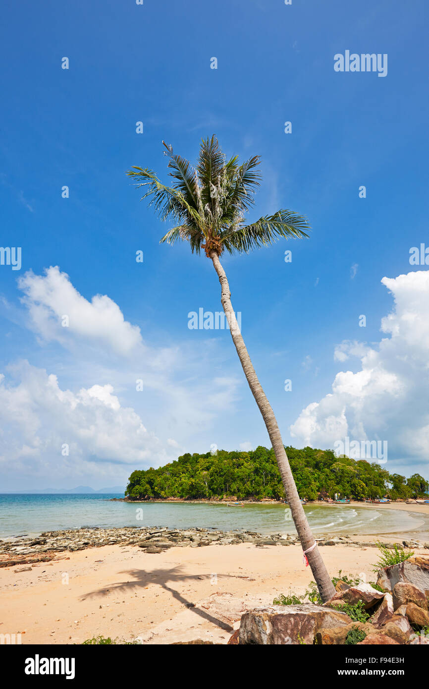
[[(337, 457), (332, 450), (286, 447), (300, 497), (342, 497), (355, 500), (388, 495), (391, 499), (426, 496), (429, 483), (419, 474), (408, 479), (390, 474), (377, 462)], [(216, 455), (186, 453), (159, 469), (133, 471), (125, 491), (137, 499), (188, 499), (236, 496), (239, 500), (264, 497), (284, 499), (273, 449), (259, 446), (251, 452)]]

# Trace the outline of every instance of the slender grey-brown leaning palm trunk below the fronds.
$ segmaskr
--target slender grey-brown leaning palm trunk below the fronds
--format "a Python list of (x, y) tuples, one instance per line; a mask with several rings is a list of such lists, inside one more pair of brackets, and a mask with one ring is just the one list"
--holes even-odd
[(300, 496), (298, 495), (295, 481), (293, 480), (291, 467), (289, 466), (289, 460), (284, 449), (282, 436), (280, 435), (280, 430), (277, 420), (275, 419), (273, 409), (271, 409), (271, 404), (266, 399), (265, 393), (262, 390), (262, 386), (258, 380), (258, 376), (256, 376), (255, 369), (253, 368), (249, 352), (246, 349), (246, 345), (244, 345), (244, 340), (242, 338), (240, 328), (238, 327), (236, 314), (234, 313), (231, 304), (231, 291), (229, 290), (227, 275), (225, 274), (216, 251), (211, 251), (210, 258), (213, 261), (216, 273), (219, 276), (222, 307), (224, 309), (225, 316), (227, 317), (233, 343), (236, 345), (236, 350), (243, 367), (244, 375), (247, 378), (247, 382), (249, 383), (253, 397), (255, 398), (256, 404), (258, 404), (260, 413), (264, 419), (266, 430), (268, 431), (275, 453), (275, 458), (278, 463), (278, 468), (280, 470), (280, 476), (282, 477), (284, 493), (286, 493), (286, 500), (291, 508), (293, 522), (295, 522), (297, 534), (301, 541), (302, 550), (304, 552), (307, 551), (306, 557), (308, 558), (308, 564), (311, 566), (311, 571), (313, 572), (317, 588), (322, 596), (322, 601), (326, 602), (334, 595), (335, 588), (331, 582), (331, 577), (328, 575), (328, 570), (324, 565), (319, 548), (317, 545), (315, 546), (315, 539), (311, 533), (310, 526), (308, 525), (304, 508), (302, 507)]

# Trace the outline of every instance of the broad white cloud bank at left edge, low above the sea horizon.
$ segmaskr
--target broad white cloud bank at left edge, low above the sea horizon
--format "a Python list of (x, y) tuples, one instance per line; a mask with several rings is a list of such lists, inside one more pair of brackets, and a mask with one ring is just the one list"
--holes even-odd
[(88, 462), (134, 467), (167, 460), (158, 438), (134, 409), (121, 406), (111, 385), (73, 393), (27, 361), (10, 367), (10, 374), (0, 376), (3, 469), (58, 477), (79, 475)]

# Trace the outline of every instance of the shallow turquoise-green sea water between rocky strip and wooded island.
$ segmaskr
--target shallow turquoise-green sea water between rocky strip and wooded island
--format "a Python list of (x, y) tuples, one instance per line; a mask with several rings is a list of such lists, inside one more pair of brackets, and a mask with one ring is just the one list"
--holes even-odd
[[(0, 494), (0, 538), (37, 535), (81, 526), (169, 526), (171, 528), (246, 529), (260, 533), (295, 533), (286, 505), (114, 502), (123, 495)], [(354, 505), (306, 505), (317, 535), (410, 533), (429, 539), (429, 517), (386, 508)]]

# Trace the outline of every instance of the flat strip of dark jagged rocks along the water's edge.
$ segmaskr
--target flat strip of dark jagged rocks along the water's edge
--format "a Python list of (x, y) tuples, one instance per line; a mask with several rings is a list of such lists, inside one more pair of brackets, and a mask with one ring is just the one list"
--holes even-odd
[[(375, 542), (354, 541), (350, 536), (317, 538), (319, 546), (350, 545), (376, 547)], [(167, 526), (121, 528), (82, 527), (65, 531), (45, 531), (35, 538), (21, 537), (0, 542), (0, 567), (35, 564), (64, 559), (61, 553), (82, 551), (102, 546), (136, 546), (146, 553), (162, 553), (168, 548), (199, 548), (250, 543), (259, 548), (299, 544), (296, 535), (284, 533), (261, 534), (255, 531), (220, 531), (208, 528), (174, 529)], [(393, 543), (384, 543), (392, 548)], [(403, 542), (409, 548), (429, 548), (428, 543)], [(400, 547), (402, 547), (402, 545)], [(18, 570), (17, 570), (18, 571)]]

